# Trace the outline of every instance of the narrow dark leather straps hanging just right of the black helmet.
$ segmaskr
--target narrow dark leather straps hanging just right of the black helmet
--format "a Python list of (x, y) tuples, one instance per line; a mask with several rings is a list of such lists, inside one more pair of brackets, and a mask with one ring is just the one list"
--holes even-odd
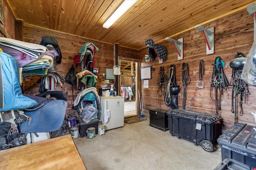
[(183, 63), (182, 64), (182, 108), (186, 108), (186, 99), (187, 99), (187, 86), (190, 83), (190, 78), (188, 75), (188, 63)]

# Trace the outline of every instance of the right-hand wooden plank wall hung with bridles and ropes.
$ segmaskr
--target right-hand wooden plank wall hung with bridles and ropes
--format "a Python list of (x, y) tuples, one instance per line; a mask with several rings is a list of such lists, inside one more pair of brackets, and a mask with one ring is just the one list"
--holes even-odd
[[(197, 23), (195, 23), (195, 25), (196, 24)], [(230, 68), (229, 63), (234, 59), (237, 52), (243, 52), (245, 55), (248, 55), (254, 41), (254, 21), (248, 12), (243, 10), (242, 12), (238, 12), (232, 16), (204, 25), (204, 27), (214, 27), (215, 29), (214, 54), (206, 55), (206, 41), (204, 40), (203, 34), (196, 29), (183, 33), (182, 35), (172, 37), (176, 40), (183, 38), (183, 60), (177, 60), (177, 52), (174, 45), (168, 41), (159, 43), (164, 45), (168, 51), (168, 57), (164, 59), (163, 64), (158, 63), (158, 58), (154, 62), (151, 61), (149, 63), (145, 63), (144, 58), (147, 54), (147, 50), (142, 49), (139, 51), (139, 57), (142, 62), (141, 66), (151, 65), (156, 69), (152, 72), (152, 80), (149, 80), (149, 88), (141, 87), (143, 112), (146, 113), (146, 115), (149, 114), (149, 109), (158, 107), (170, 109), (164, 103), (164, 96), (161, 96), (160, 98), (156, 96), (160, 66), (164, 66), (165, 73), (168, 75), (169, 66), (171, 64), (175, 64), (177, 85), (182, 86), (181, 67), (184, 62), (188, 63), (190, 76), (190, 84), (188, 84), (187, 89), (186, 109), (216, 114), (215, 102), (210, 98), (210, 80), (213, 69), (212, 64), (214, 63), (215, 58), (220, 56), (226, 63), (226, 66), (224, 66), (224, 73), (230, 82), (232, 68)], [(202, 78), (205, 85), (204, 88), (196, 87), (196, 82), (199, 78), (200, 59), (204, 60), (204, 76)], [(143, 85), (143, 82), (141, 82), (141, 84)], [(238, 123), (255, 125), (254, 117), (251, 112), (256, 111), (256, 87), (249, 86), (249, 91), (250, 95), (246, 96), (246, 104), (242, 104), (244, 114), (242, 116), (238, 115)], [(228, 90), (222, 94), (221, 111), (219, 112), (219, 115), (223, 117), (224, 125), (222, 129), (226, 129), (231, 125), (234, 125), (234, 113), (231, 113), (231, 94), (232, 87), (229, 87)], [(181, 92), (178, 94), (178, 107), (182, 108)]]

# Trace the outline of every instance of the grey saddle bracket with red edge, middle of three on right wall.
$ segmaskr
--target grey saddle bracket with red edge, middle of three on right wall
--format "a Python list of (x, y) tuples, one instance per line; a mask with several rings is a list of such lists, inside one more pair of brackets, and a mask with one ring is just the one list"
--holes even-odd
[(210, 27), (208, 29), (204, 28), (200, 24), (196, 25), (196, 30), (202, 32), (204, 34), (204, 39), (206, 41), (206, 55), (214, 53), (214, 27)]

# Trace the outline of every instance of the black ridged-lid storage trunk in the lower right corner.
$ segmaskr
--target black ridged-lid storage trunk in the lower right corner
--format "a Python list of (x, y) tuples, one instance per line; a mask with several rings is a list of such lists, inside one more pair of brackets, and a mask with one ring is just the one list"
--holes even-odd
[(221, 158), (231, 158), (256, 168), (256, 131), (254, 126), (236, 123), (218, 139)]

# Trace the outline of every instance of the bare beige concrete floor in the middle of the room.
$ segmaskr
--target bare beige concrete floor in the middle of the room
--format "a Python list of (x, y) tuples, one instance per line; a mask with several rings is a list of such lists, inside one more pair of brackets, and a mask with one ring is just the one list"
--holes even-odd
[(218, 144), (206, 152), (149, 126), (149, 119), (74, 142), (88, 170), (213, 170), (222, 162)]

